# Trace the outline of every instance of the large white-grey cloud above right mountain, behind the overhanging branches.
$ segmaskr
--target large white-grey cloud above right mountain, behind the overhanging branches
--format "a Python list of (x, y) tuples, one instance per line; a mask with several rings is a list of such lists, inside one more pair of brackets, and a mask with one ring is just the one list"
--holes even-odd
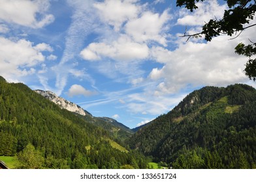
[[(226, 8), (226, 5), (219, 5), (217, 1), (205, 1), (197, 5), (199, 8), (192, 13), (181, 10), (177, 24), (194, 26), (193, 31), (200, 32), (204, 21), (214, 16), (221, 18)], [(179, 38), (174, 50), (162, 46), (152, 47), (152, 59), (163, 64), (162, 68), (153, 68), (148, 75), (153, 82), (158, 81), (154, 95), (168, 96), (184, 88), (193, 90), (197, 86), (245, 83), (248, 78), (243, 70), (248, 59), (236, 55), (234, 47), (239, 42), (249, 44), (248, 37), (253, 36), (253, 30), (248, 29), (234, 40), (229, 40), (230, 37), (225, 35), (213, 38), (211, 42), (193, 38), (184, 42)]]

